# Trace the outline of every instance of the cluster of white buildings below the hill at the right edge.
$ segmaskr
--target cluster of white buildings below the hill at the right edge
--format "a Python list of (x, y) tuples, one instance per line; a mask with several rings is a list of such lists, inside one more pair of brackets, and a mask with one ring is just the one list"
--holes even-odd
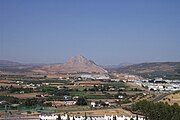
[(135, 81), (135, 84), (153, 91), (179, 91), (180, 82), (177, 80), (164, 80), (157, 78), (155, 80)]

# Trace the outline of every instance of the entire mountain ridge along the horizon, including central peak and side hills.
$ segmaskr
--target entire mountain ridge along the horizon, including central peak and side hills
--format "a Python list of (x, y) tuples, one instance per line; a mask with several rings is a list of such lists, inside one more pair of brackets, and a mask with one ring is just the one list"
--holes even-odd
[(129, 73), (129, 74), (160, 74), (161, 76), (180, 76), (180, 62), (145, 62), (132, 65), (103, 67), (82, 55), (71, 57), (65, 63), (23, 64), (9, 60), (0, 60), (0, 71), (18, 72), (55, 72), (55, 73)]

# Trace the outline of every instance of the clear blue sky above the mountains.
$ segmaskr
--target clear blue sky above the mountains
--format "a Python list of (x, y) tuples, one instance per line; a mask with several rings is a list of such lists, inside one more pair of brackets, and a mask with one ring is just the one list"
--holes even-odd
[(179, 0), (0, 0), (0, 59), (180, 61)]

